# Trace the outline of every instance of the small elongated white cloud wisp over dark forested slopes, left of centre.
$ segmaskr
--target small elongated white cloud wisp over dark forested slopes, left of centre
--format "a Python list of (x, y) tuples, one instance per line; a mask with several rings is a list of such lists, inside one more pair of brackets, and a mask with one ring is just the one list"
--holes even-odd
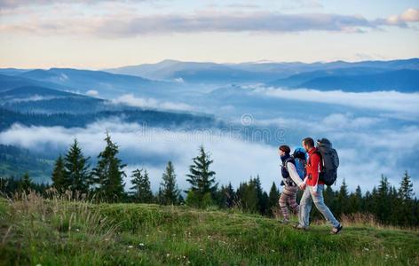
[(189, 106), (184, 103), (175, 103), (161, 101), (154, 98), (136, 98), (133, 94), (125, 94), (119, 98), (111, 100), (113, 104), (123, 104), (127, 106), (167, 109), (175, 111), (194, 111), (194, 106)]

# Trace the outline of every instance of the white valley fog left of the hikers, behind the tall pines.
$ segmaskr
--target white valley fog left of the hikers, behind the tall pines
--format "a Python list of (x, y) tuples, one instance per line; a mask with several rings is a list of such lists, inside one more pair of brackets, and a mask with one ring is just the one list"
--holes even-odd
[[(104, 148), (106, 129), (109, 129), (111, 137), (120, 146), (121, 155), (130, 158), (130, 169), (149, 169), (154, 189), (161, 181), (168, 160), (172, 160), (175, 165), (179, 186), (186, 189), (187, 169), (192, 158), (198, 155), (199, 145), (204, 145), (211, 153), (213, 168), (220, 184), (232, 182), (238, 185), (248, 180), (250, 175), (257, 174), (261, 176), (266, 189), (273, 181), (278, 181), (278, 158), (273, 146), (242, 142), (231, 137), (213, 138), (204, 132), (169, 132), (163, 129), (144, 131), (141, 125), (118, 120), (99, 121), (85, 129), (25, 127), (15, 124), (0, 133), (0, 143), (20, 145), (37, 152), (65, 151), (73, 137), (76, 137), (83, 152), (95, 157)], [(244, 151), (248, 151), (248, 155), (243, 156)]]

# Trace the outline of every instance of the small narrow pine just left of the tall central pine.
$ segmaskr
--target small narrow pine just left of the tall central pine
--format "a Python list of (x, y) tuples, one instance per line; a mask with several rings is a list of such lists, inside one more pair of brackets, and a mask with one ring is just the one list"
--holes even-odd
[(175, 168), (171, 161), (168, 162), (166, 170), (162, 175), (162, 183), (159, 189), (159, 201), (164, 205), (176, 205), (179, 200), (178, 184), (176, 184)]

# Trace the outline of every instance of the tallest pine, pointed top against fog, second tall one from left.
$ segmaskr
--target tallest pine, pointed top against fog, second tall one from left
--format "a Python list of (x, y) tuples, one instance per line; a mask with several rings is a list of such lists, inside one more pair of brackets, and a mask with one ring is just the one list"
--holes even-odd
[(98, 155), (98, 164), (92, 171), (93, 182), (98, 186), (97, 192), (103, 200), (123, 200), (125, 195), (123, 177), (126, 176), (123, 168), (126, 165), (116, 157), (119, 148), (112, 142), (108, 132), (104, 140), (107, 146)]

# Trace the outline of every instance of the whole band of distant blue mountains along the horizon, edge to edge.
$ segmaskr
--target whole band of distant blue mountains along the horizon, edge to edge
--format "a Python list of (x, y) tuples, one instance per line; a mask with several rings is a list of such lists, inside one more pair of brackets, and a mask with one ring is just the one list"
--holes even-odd
[[(205, 86), (265, 84), (289, 89), (419, 91), (419, 59), (360, 62), (246, 62), (221, 64), (163, 60), (156, 64), (123, 66), (106, 71), (73, 68), (0, 69), (0, 91), (38, 86), (116, 98), (186, 98)], [(182, 97), (184, 89), (190, 93)]]

